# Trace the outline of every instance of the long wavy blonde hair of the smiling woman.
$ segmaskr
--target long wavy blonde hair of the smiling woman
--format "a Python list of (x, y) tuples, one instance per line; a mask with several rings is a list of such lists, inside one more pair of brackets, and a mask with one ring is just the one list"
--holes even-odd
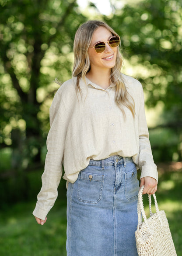
[[(74, 65), (73, 77), (77, 77), (76, 90), (80, 90), (80, 79), (85, 81), (86, 74), (90, 70), (90, 59), (88, 56), (88, 48), (90, 47), (94, 31), (103, 26), (108, 29), (113, 36), (119, 36), (109, 25), (102, 21), (88, 21), (82, 24), (77, 30), (74, 38), (73, 52), (74, 52)], [(135, 115), (134, 100), (126, 89), (123, 82), (121, 68), (123, 66), (122, 55), (117, 48), (116, 65), (111, 70), (110, 80), (116, 84), (115, 101), (126, 118), (123, 106), (126, 106)]]

